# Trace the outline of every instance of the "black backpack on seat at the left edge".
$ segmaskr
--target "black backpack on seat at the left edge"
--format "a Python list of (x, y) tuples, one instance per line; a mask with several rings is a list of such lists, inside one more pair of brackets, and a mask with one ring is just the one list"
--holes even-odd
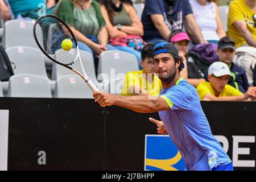
[(14, 75), (13, 68), (5, 49), (0, 46), (0, 80), (8, 81), (10, 76)]

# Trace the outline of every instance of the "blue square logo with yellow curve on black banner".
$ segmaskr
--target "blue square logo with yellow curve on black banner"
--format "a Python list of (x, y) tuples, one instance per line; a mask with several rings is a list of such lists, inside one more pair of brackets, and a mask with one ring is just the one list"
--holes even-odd
[(183, 171), (184, 160), (169, 135), (145, 136), (144, 169), (152, 171)]

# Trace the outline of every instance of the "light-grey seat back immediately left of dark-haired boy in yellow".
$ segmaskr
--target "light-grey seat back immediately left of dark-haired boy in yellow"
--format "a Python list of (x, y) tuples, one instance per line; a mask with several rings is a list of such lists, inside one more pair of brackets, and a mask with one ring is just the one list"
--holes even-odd
[(113, 90), (117, 82), (125, 77), (125, 74), (130, 71), (138, 71), (137, 58), (123, 51), (106, 51), (102, 52), (98, 62), (98, 80), (109, 83), (110, 93), (119, 93), (118, 90)]

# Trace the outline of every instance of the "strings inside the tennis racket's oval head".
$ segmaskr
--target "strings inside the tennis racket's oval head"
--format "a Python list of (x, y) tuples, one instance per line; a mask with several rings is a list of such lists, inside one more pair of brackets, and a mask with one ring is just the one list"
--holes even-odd
[[(36, 24), (36, 39), (40, 47), (55, 61), (70, 65), (75, 63), (77, 58), (77, 43), (68, 28), (53, 17), (44, 17)], [(69, 39), (73, 47), (69, 51), (61, 48), (63, 40)]]

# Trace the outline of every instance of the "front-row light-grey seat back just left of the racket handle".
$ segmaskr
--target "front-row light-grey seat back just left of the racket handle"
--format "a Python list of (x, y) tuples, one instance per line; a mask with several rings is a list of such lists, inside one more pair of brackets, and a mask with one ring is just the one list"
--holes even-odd
[(56, 81), (57, 98), (93, 98), (92, 90), (80, 76), (61, 76)]

